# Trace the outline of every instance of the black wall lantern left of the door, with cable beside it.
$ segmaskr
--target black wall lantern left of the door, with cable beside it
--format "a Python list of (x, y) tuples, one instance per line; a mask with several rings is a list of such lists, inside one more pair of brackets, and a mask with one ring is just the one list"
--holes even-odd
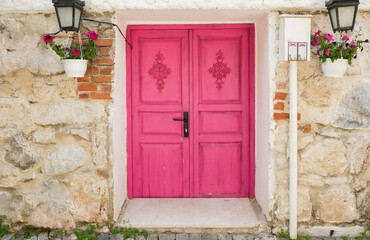
[(60, 30), (78, 32), (85, 2), (80, 0), (53, 0), (53, 3)]

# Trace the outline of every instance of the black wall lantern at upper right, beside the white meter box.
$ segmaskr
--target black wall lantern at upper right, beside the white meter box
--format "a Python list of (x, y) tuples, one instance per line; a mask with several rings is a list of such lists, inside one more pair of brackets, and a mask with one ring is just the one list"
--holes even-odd
[(359, 0), (330, 0), (325, 3), (333, 31), (353, 30)]

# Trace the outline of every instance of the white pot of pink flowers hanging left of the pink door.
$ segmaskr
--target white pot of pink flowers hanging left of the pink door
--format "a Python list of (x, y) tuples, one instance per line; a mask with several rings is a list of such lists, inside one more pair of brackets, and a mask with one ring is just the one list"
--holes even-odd
[(76, 44), (74, 46), (64, 46), (56, 44), (53, 36), (47, 34), (44, 36), (44, 42), (49, 44), (51, 49), (58, 54), (63, 62), (64, 70), (68, 77), (83, 77), (86, 73), (87, 65), (91, 64), (97, 53), (95, 40), (98, 34), (95, 31), (86, 33), (88, 42), (86, 45)]

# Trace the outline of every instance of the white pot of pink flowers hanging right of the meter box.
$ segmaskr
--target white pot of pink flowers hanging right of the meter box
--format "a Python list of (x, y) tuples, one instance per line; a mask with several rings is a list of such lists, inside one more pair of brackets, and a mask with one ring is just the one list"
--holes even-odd
[[(357, 58), (357, 50), (363, 50), (362, 44), (368, 42), (357, 39), (350, 40), (348, 36), (341, 36), (340, 41), (335, 41), (333, 35), (317, 31), (312, 44), (317, 47), (317, 55), (321, 61), (322, 71), (327, 77), (343, 77), (347, 65), (352, 64), (352, 59)], [(329, 60), (328, 60), (329, 59)]]

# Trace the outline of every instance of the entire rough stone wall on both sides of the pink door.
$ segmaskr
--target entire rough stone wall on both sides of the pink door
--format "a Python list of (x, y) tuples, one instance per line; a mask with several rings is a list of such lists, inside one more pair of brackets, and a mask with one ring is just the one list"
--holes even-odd
[[(1, 2), (1, 11), (6, 12), (8, 2)], [(35, 6), (42, 10), (41, 3)], [(107, 4), (101, 1), (100, 7), (112, 6)], [(113, 21), (112, 16), (91, 17)], [(369, 24), (370, 13), (360, 13), (356, 28), (363, 26), (365, 37), (370, 37)], [(312, 33), (318, 29), (331, 30), (327, 15), (314, 15)], [(85, 23), (83, 32), (96, 30), (105, 39), (103, 50), (84, 78), (71, 79), (42, 41), (43, 33), (56, 30), (54, 14), (0, 16), (0, 218), (74, 228), (113, 215), (109, 129), (115, 35), (110, 26)], [(58, 36), (58, 41), (65, 37)], [(314, 53), (310, 62), (298, 64), (300, 227), (368, 226), (369, 46), (341, 79), (324, 77)], [(277, 62), (270, 135), (276, 166), (270, 199), (275, 202), (270, 213), (274, 228), (287, 226), (289, 216), (288, 84), (288, 63)]]

